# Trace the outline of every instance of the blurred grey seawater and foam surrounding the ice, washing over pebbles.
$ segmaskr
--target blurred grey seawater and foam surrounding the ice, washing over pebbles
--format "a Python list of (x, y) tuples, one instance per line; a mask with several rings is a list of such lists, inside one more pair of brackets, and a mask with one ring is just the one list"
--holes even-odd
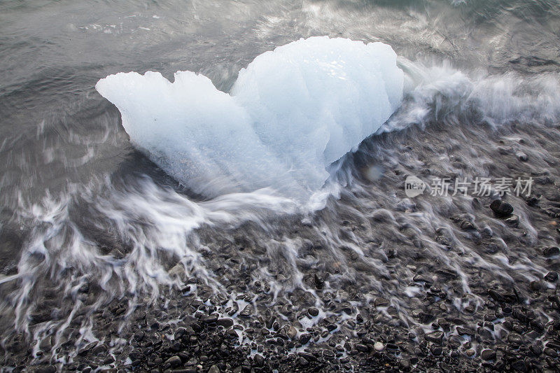
[[(31, 341), (29, 364), (43, 356), (32, 342), (54, 336), (45, 356), (68, 363), (86, 342), (113, 339), (118, 357), (130, 338), (99, 330), (96, 311), (125, 297), (126, 325), (138, 304), (181, 302), (166, 289), (187, 283), (198, 283), (197, 299), (229, 299), (221, 314), (252, 304), (300, 322), (298, 335), (328, 320), (337, 346), (356, 336), (345, 323), (359, 313), (421, 339), (434, 328), (415, 312), (430, 314), (420, 297), (430, 282), (451, 319), (486, 320), (486, 290), (513, 286), (547, 325), (556, 285), (542, 299), (531, 292), (560, 269), (558, 255), (542, 254), (560, 239), (559, 33), (558, 1), (0, 1), (3, 346)], [(120, 71), (190, 70), (227, 92), (262, 52), (323, 35), (388, 43), (407, 83), (384, 133), (339, 162), (338, 192), (311, 213), (262, 191), (193, 195), (134, 150), (94, 90)], [(540, 209), (509, 197), (512, 227), (488, 209), (496, 194), (409, 199), (407, 175), (532, 176)], [(317, 318), (294, 321), (311, 306)], [(461, 354), (506, 341), (500, 323)]]

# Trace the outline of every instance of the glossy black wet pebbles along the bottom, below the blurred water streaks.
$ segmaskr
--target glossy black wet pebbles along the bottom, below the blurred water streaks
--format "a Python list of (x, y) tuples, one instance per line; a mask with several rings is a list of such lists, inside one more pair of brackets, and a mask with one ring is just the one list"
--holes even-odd
[[(323, 291), (324, 284), (316, 274), (312, 281), (321, 305), (336, 316), (319, 318), (323, 311), (305, 305), (311, 300), (298, 292), (290, 296), (290, 302), (277, 300), (274, 307), (267, 308), (272, 300), (270, 289), (247, 281), (249, 276), (238, 279), (246, 286), (232, 285), (244, 288), (235, 297), (246, 304), (242, 309), (190, 279), (182, 291), (162, 297), (160, 307), (138, 307), (127, 315), (127, 300), (113, 301), (93, 315), (101, 342), (78, 344), (76, 349), (77, 316), (73, 321), (76, 329), (55, 349), (55, 360), (50, 356), (54, 336), (41, 341), (37, 358), (32, 358), (32, 348), (14, 335), (3, 346), (3, 366), (34, 372), (55, 372), (57, 368), (79, 372), (406, 372), (479, 367), (556, 371), (560, 321), (554, 316), (560, 310), (560, 297), (541, 283), (555, 284), (556, 272), (531, 283), (528, 298), (520, 296), (514, 286), (489, 288), (480, 294), (483, 307), (468, 307), (462, 313), (437, 288), (437, 283), (449, 281), (449, 277), (451, 274), (438, 273), (435, 281), (421, 275), (414, 279), (423, 290), (421, 308), (412, 314), (431, 328), (423, 331), (395, 322), (397, 313), (384, 298), (377, 297), (365, 307), (356, 290)], [(531, 309), (535, 302), (544, 306), (549, 320), (535, 315)], [(316, 323), (305, 328), (313, 320)], [(126, 326), (120, 328), (123, 322)], [(69, 356), (73, 358), (66, 363), (53, 364)]]

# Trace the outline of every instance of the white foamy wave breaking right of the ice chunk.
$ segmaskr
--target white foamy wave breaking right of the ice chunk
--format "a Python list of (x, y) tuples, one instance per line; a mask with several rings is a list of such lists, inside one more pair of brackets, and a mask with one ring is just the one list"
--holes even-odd
[[(426, 127), (430, 122), (470, 115), (471, 124), (499, 127), (512, 122), (554, 123), (560, 118), (560, 76), (543, 73), (489, 75), (465, 73), (449, 62), (412, 62), (400, 58), (405, 72), (404, 99), (379, 132)], [(475, 115), (476, 113), (476, 115)], [(453, 122), (453, 120), (451, 120)]]

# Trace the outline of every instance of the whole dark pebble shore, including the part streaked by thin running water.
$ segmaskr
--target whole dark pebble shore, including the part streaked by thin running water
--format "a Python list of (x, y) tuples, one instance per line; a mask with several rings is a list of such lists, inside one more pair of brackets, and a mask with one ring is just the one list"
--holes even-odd
[[(311, 218), (278, 218), (266, 230), (251, 222), (202, 228), (197, 249), (211, 281), (167, 258), (181, 286), (155, 300), (130, 295), (102, 307), (101, 288), (60, 300), (45, 281), (31, 334), (4, 325), (2, 366), (557, 372), (559, 141), (557, 125), (452, 132), (433, 125), (377, 136), (348, 162), (356, 170), (381, 162), (383, 176), (367, 181), (356, 171), (354, 184)], [(410, 174), (477, 172), (530, 176), (533, 189), (411, 200), (401, 188)], [(83, 306), (64, 311), (76, 299)], [(56, 318), (68, 324), (49, 332)], [(47, 332), (34, 336), (39, 325)]]

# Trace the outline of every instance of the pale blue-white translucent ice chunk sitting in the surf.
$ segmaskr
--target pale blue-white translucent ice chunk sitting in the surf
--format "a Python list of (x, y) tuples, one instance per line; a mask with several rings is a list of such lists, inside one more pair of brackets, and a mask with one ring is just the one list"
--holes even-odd
[(391, 116), (402, 84), (389, 45), (321, 36), (259, 55), (230, 94), (191, 71), (174, 83), (117, 73), (96, 88), (134, 146), (195, 192), (272, 187), (303, 197)]

